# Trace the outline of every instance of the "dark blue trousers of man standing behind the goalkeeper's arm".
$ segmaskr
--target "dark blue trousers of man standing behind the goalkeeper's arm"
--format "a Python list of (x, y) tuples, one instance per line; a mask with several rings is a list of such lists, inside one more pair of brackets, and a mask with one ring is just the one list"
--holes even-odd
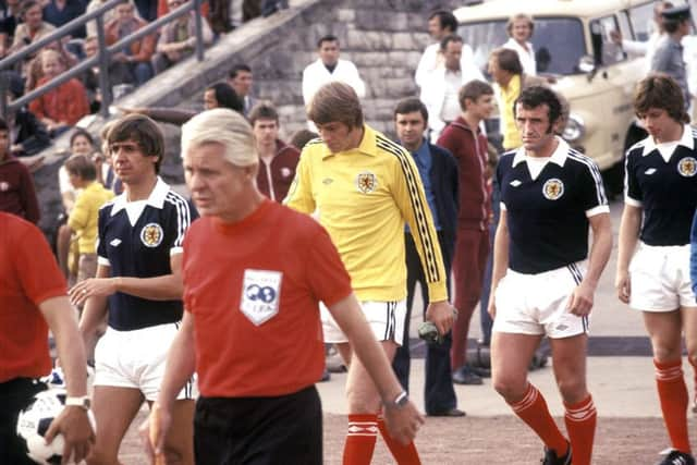
[[(438, 242), (443, 253), (443, 265), (445, 266), (445, 274), (448, 276), (448, 289), (450, 289), (450, 266), (452, 261), (453, 245), (445, 244), (442, 234), (438, 233)], [(416, 283), (421, 286), (421, 295), (424, 296), (424, 311), (428, 306), (428, 287), (421, 262), (416, 252), (414, 238), (412, 234), (405, 235), (406, 245), (406, 322), (404, 325), (404, 341), (402, 346), (398, 348), (392, 362), (392, 368), (402, 383), (402, 387), (408, 391), (409, 389), (409, 320), (412, 318), (412, 306), (414, 304), (414, 291)], [(426, 414), (444, 412), (457, 406), (457, 397), (453, 388), (452, 372), (450, 368), (450, 347), (452, 339), (450, 333), (445, 335), (441, 344), (426, 345), (426, 382), (424, 387), (424, 405)]]

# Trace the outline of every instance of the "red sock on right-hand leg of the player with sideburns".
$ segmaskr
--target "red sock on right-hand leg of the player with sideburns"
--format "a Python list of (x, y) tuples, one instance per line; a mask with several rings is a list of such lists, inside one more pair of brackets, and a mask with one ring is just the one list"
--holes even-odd
[(592, 397), (588, 394), (585, 400), (576, 404), (564, 402), (564, 407), (566, 407), (564, 423), (571, 440), (574, 465), (590, 465), (592, 442), (596, 436), (596, 419), (598, 418)]

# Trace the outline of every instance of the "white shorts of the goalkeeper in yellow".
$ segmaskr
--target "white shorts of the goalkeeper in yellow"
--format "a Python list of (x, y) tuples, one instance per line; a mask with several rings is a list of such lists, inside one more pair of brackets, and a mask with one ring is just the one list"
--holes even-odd
[[(394, 341), (402, 345), (404, 340), (404, 320), (406, 319), (406, 299), (399, 302), (366, 301), (360, 303), (363, 315), (368, 320), (370, 329), (378, 341)], [(337, 321), (323, 304), (319, 304), (322, 318), (322, 331), (325, 342), (348, 342)]]

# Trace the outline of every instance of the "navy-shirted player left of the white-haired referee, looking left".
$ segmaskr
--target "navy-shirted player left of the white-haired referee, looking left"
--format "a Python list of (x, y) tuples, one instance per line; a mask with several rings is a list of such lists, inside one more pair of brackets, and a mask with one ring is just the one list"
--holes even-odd
[[(113, 124), (107, 142), (125, 188), (99, 211), (97, 278), (70, 291), (73, 303), (86, 302), (81, 332), (87, 344), (106, 314), (109, 322), (95, 350), (99, 427), (90, 464), (118, 463), (121, 440), (143, 401), (157, 399), (182, 319), (182, 245), (196, 216), (158, 176), (164, 142), (152, 120), (130, 114)], [(174, 403), (168, 463), (194, 463), (193, 397), (187, 383)]]

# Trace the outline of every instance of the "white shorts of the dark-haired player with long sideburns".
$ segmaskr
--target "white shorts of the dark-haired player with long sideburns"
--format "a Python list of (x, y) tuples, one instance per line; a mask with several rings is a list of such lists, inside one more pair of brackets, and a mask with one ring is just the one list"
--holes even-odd
[(579, 261), (538, 274), (509, 269), (494, 294), (497, 316), (492, 331), (547, 334), (551, 339), (588, 333), (589, 317), (578, 317), (566, 308), (586, 267), (586, 261)]

